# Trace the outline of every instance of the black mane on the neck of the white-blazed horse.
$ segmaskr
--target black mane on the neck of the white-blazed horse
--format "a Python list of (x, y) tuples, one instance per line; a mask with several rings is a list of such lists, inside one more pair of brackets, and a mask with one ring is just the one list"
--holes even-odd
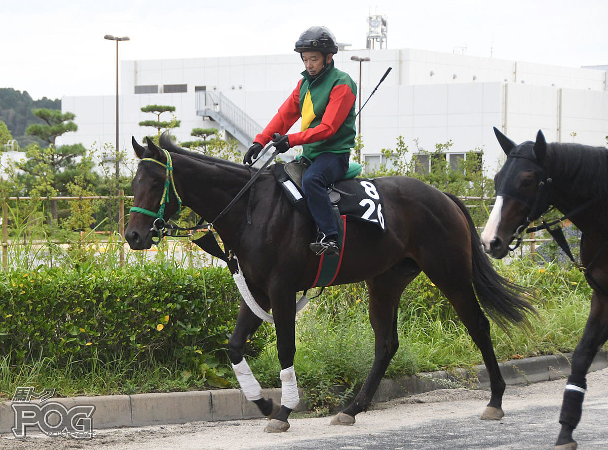
[(573, 143), (547, 144), (547, 172), (568, 180), (585, 196), (608, 195), (608, 149)]

